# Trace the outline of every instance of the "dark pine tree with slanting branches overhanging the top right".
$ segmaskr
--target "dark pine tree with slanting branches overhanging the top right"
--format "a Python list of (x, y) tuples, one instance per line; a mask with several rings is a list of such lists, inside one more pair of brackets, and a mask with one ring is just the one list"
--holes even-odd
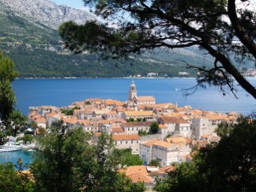
[[(241, 3), (241, 9), (236, 7), (237, 3)], [(197, 85), (216, 85), (223, 94), (231, 90), (236, 96), (234, 78), (256, 98), (256, 89), (237, 65), (256, 58), (256, 16), (255, 11), (248, 9), (249, 3), (84, 0), (96, 15), (109, 22), (88, 21), (83, 26), (67, 22), (59, 32), (65, 46), (76, 53), (90, 49), (112, 58), (140, 54), (147, 49), (197, 46), (215, 58), (212, 67), (195, 67), (199, 71)], [(188, 63), (188, 67), (192, 66)]]

